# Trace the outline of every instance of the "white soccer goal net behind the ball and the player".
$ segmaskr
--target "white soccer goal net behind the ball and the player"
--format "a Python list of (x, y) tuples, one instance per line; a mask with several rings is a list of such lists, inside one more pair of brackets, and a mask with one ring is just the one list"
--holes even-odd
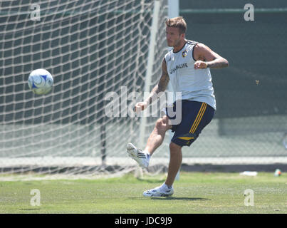
[[(33, 3), (0, 2), (0, 173), (134, 170), (126, 145), (139, 143), (141, 121), (130, 105), (142, 100), (151, 49), (150, 89), (159, 80), (167, 1)], [(28, 89), (37, 68), (53, 75), (47, 95)], [(156, 118), (147, 119), (145, 140)]]

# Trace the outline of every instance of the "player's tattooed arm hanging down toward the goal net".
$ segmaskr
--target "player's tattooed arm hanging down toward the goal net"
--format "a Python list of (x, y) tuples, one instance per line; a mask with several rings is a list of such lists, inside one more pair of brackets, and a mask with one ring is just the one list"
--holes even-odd
[[(164, 92), (167, 89), (167, 85), (169, 83), (169, 76), (167, 73), (167, 63), (165, 62), (165, 58), (162, 61), (162, 76), (160, 77), (159, 83), (152, 89), (150, 95), (143, 102), (139, 102), (135, 105), (136, 109), (145, 110), (148, 105), (150, 105), (153, 101), (157, 100), (157, 95), (160, 92)], [(134, 109), (135, 110), (135, 109)]]

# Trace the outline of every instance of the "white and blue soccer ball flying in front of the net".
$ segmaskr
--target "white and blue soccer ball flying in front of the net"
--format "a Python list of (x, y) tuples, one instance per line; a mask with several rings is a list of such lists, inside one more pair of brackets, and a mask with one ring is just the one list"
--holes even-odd
[(28, 86), (33, 93), (38, 95), (47, 94), (53, 86), (53, 76), (45, 69), (37, 69), (30, 73)]

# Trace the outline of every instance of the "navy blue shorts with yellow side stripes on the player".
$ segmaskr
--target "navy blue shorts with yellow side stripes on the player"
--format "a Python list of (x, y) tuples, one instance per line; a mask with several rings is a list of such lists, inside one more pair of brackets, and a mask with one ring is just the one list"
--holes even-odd
[[(176, 112), (176, 103), (172, 105), (173, 112)], [(170, 117), (168, 108), (166, 108), (167, 117), (172, 120), (176, 118)], [(190, 146), (194, 142), (202, 129), (212, 121), (215, 110), (204, 102), (193, 100), (182, 100), (182, 120), (179, 124), (172, 125), (172, 142), (179, 146)]]

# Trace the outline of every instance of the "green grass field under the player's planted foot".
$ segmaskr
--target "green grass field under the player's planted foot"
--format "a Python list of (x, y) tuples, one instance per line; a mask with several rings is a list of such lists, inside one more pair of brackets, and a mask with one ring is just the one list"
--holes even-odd
[[(1, 176), (0, 176), (1, 177)], [(2, 176), (3, 177), (3, 176)], [(0, 213), (286, 213), (287, 175), (259, 172), (181, 172), (172, 197), (142, 197), (165, 175), (136, 179), (133, 175), (93, 180), (0, 181)], [(31, 206), (31, 190), (41, 205)], [(244, 205), (244, 191), (254, 191), (254, 206)]]

